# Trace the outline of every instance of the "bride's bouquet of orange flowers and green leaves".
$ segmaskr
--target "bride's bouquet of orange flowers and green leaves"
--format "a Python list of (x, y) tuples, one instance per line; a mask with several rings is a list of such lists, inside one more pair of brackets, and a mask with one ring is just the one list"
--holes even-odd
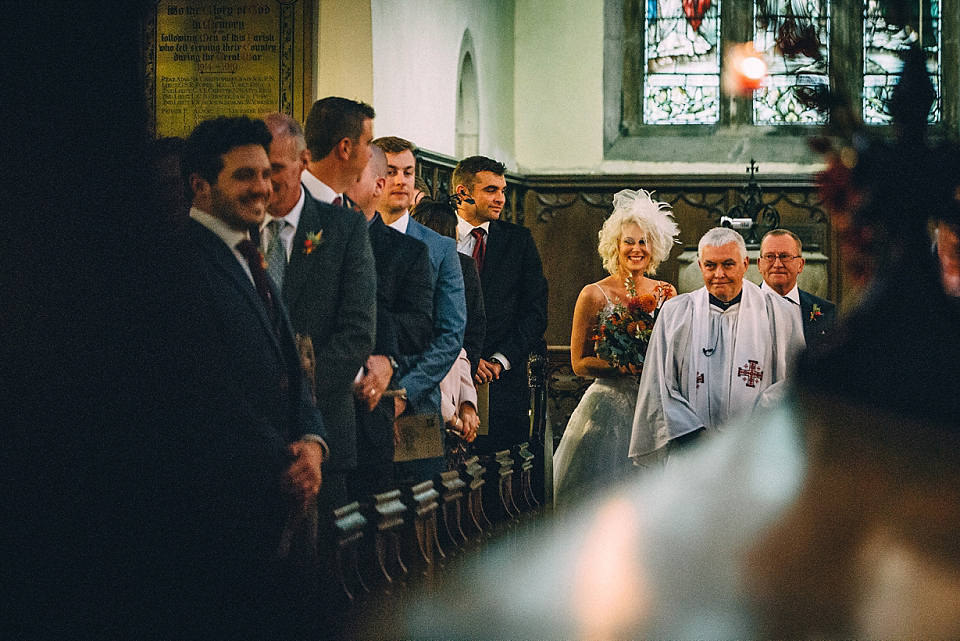
[(597, 316), (594, 351), (614, 367), (633, 365), (639, 369), (647, 355), (657, 308), (666, 292), (658, 287), (655, 295), (637, 296), (633, 279), (627, 279), (624, 285), (626, 302), (617, 302), (612, 309), (607, 306)]

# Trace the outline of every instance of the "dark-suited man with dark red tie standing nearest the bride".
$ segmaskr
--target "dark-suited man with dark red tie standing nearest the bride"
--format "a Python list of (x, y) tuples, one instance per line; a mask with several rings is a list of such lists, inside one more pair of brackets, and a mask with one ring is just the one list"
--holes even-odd
[(527, 358), (547, 329), (547, 280), (530, 230), (500, 220), (506, 203), (505, 168), (471, 156), (453, 171), (458, 197), (458, 251), (480, 270), (487, 332), (474, 380), (490, 383), (490, 433), (477, 448), (493, 452), (530, 433)]

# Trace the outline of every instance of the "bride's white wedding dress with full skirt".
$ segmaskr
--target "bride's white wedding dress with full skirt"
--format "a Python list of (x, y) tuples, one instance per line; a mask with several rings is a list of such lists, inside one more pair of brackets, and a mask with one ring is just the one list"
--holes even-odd
[[(603, 291), (599, 285), (595, 285)], [(613, 302), (604, 292), (604, 314)], [(553, 455), (556, 505), (570, 504), (627, 478), (634, 465), (627, 456), (637, 405), (637, 376), (597, 378), (580, 399)]]

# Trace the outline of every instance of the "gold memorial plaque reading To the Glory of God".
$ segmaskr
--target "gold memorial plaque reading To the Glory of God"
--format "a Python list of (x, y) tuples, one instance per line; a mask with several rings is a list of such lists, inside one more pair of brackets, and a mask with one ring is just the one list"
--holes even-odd
[(208, 118), (271, 111), (302, 122), (312, 13), (310, 0), (159, 0), (145, 34), (156, 134), (186, 136)]

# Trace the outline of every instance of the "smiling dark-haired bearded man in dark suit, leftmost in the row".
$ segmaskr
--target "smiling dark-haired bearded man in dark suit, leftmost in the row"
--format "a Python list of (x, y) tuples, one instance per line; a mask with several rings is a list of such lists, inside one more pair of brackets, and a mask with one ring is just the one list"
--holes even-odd
[(286, 307), (249, 236), (271, 194), (269, 144), (262, 121), (221, 117), (197, 125), (183, 156), (193, 192), (183, 245), (197, 275), (183, 296), (200, 309), (197, 331), (217, 341), (210, 360), (229, 379), (234, 408), (217, 434), (189, 437), (209, 440), (217, 455), (198, 465), (197, 496), (182, 507), (198, 515), (196, 536), (209, 544), (209, 558), (198, 562), (225, 577), (190, 598), (203, 608), (212, 607), (207, 598), (223, 599), (238, 636), (295, 629), (280, 560), (320, 487), (327, 451)]

